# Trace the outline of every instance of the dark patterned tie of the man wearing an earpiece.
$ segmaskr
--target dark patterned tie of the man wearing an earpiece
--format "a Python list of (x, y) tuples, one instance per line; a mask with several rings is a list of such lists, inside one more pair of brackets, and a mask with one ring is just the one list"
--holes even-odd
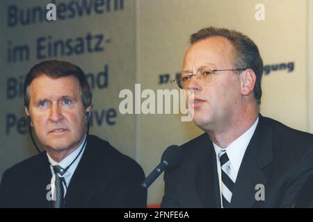
[(63, 182), (62, 182), (63, 178), (61, 178), (61, 176), (63, 176), (65, 171), (62, 167), (58, 165), (53, 166), (53, 169), (54, 169), (54, 175), (56, 176), (55, 191), (54, 191), (56, 199), (53, 202), (53, 207), (61, 208), (63, 207), (63, 197), (64, 197), (64, 189), (63, 189)]

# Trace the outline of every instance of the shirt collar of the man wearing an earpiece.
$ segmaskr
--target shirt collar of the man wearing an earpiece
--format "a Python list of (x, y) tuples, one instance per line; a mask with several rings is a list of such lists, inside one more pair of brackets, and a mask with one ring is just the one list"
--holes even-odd
[[(79, 144), (79, 147), (77, 149), (75, 149), (72, 153), (70, 153), (70, 155), (67, 155), (67, 157), (65, 157), (63, 160), (61, 160), (61, 162), (56, 162), (54, 161), (49, 154), (47, 153), (47, 157), (49, 159), (49, 162), (51, 164), (51, 166), (55, 166), (55, 165), (59, 165), (60, 167), (62, 167), (63, 169), (65, 169), (68, 165), (70, 165), (72, 163), (72, 161), (77, 157), (77, 155), (79, 154), (79, 152), (81, 151), (81, 149), (84, 149), (86, 147), (85, 144), (85, 140), (86, 140), (86, 134), (83, 137), (83, 141), (81, 142), (81, 144)], [(85, 145), (85, 146), (83, 146)], [(83, 154), (83, 151), (81, 151), (80, 156)], [(75, 160), (75, 162), (78, 162), (80, 160), (80, 157), (77, 157), (77, 160)], [(74, 173), (77, 164), (75, 164), (75, 162), (72, 164), (72, 166), (67, 170), (68, 173)], [(67, 173), (66, 172), (66, 173)], [(65, 174), (66, 174), (65, 173)]]

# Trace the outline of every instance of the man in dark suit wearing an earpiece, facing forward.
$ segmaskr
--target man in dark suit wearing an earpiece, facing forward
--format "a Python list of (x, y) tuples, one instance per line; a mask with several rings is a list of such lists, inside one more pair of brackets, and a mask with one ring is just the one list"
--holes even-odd
[(25, 110), (46, 152), (3, 173), (0, 207), (146, 207), (141, 167), (88, 135), (91, 101), (85, 74), (70, 62), (29, 71)]

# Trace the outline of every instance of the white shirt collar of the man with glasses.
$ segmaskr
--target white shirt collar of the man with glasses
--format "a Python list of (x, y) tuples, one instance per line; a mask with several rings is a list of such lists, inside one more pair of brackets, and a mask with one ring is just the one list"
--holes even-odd
[(226, 148), (220, 148), (220, 146), (213, 143), (216, 156), (218, 156), (218, 153), (220, 151), (222, 150), (226, 151), (227, 156), (230, 159), (230, 163), (232, 164), (232, 167), (234, 167), (236, 174), (239, 171), (243, 155), (246, 152), (250, 139), (252, 138), (253, 133), (255, 133), (255, 128), (257, 128), (258, 121), (259, 117), (257, 117), (255, 123), (253, 123), (252, 126), (245, 133), (243, 133), (240, 137), (235, 139)]

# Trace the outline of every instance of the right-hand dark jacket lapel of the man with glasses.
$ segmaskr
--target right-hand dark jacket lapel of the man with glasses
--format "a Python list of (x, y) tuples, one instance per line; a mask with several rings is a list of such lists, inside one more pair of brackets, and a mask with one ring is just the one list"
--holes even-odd
[(251, 207), (255, 203), (255, 185), (265, 186), (266, 176), (262, 168), (273, 160), (271, 148), (271, 129), (266, 126), (259, 114), (259, 123), (243, 156), (234, 191), (231, 207)]

